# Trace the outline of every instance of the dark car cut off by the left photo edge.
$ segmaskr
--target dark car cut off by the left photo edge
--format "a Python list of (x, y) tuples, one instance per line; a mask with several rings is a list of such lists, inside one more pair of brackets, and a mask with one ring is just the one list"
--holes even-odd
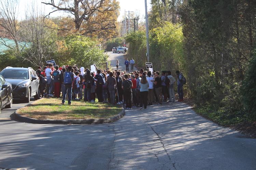
[(11, 108), (13, 101), (12, 85), (0, 75), (0, 113), (2, 108)]

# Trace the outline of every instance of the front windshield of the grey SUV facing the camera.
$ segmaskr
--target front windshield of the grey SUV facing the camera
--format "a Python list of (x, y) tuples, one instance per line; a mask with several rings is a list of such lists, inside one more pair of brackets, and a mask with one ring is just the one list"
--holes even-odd
[(28, 79), (27, 70), (3, 70), (0, 75), (5, 79)]

